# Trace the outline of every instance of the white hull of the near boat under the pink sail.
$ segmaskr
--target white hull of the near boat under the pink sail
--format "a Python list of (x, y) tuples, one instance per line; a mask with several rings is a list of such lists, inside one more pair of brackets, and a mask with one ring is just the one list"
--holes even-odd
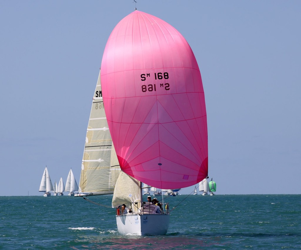
[(118, 232), (122, 235), (165, 235), (169, 226), (169, 214), (116, 215)]

